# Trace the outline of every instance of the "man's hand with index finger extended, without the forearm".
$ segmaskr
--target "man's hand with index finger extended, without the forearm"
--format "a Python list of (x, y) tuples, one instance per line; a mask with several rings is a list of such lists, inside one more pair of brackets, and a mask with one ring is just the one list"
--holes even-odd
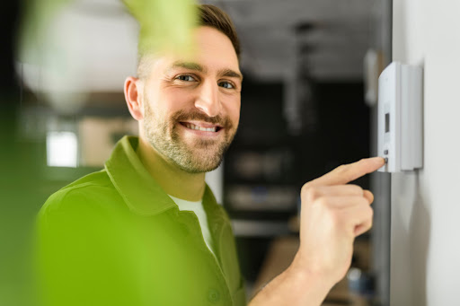
[(301, 191), (300, 248), (291, 268), (329, 281), (349, 269), (355, 237), (372, 226), (373, 194), (349, 181), (385, 164), (381, 157), (342, 165), (304, 185)]

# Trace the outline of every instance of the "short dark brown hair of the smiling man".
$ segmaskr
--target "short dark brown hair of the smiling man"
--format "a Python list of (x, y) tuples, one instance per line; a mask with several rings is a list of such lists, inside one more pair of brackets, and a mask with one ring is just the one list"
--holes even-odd
[[(199, 26), (207, 26), (222, 32), (234, 46), (234, 52), (236, 57), (240, 58), (240, 40), (236, 34), (234, 23), (230, 17), (215, 5), (211, 4), (199, 4), (197, 5), (198, 22)], [(137, 76), (145, 78), (147, 74), (147, 63), (146, 63), (146, 50), (141, 47), (142, 42), (139, 41), (138, 46), (138, 61), (137, 61)]]

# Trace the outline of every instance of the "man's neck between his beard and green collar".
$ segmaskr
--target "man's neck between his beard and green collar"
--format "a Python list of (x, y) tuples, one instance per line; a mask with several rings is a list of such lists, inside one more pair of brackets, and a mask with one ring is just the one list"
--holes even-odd
[(139, 137), (137, 155), (146, 170), (168, 195), (187, 201), (199, 201), (205, 192), (205, 173), (189, 173), (167, 161), (143, 137)]

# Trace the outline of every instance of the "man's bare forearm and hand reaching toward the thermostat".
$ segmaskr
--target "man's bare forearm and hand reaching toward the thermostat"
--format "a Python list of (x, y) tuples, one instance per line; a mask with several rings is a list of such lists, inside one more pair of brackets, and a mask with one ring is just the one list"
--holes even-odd
[(304, 185), (300, 247), (291, 265), (251, 301), (258, 305), (321, 305), (347, 273), (355, 237), (372, 226), (374, 196), (349, 181), (373, 172), (384, 159), (343, 165)]

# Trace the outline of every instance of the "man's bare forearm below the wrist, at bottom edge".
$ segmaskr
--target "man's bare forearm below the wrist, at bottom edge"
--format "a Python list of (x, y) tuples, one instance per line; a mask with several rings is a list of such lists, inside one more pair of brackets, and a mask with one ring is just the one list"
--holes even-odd
[(249, 306), (319, 306), (332, 285), (321, 275), (291, 266), (267, 284)]

